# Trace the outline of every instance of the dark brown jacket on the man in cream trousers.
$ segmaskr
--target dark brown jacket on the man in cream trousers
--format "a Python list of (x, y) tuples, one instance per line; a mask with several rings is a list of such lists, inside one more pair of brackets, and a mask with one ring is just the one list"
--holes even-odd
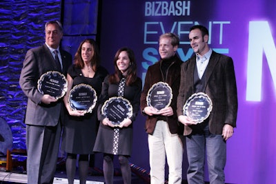
[[(183, 125), (179, 124), (177, 121), (177, 95), (179, 92), (179, 82), (180, 82), (180, 65), (183, 63), (177, 56), (173, 57), (172, 65), (168, 68), (167, 79), (164, 81), (163, 76), (161, 74), (161, 61), (158, 61), (154, 65), (151, 65), (148, 68), (146, 73), (144, 88), (141, 92), (141, 110), (146, 108), (146, 96), (148, 95), (148, 90), (152, 87), (153, 84), (158, 83), (160, 81), (168, 83), (170, 88), (172, 88), (172, 102), (170, 103), (170, 107), (173, 110), (173, 115), (165, 117), (168, 122), (168, 127), (170, 129), (170, 133), (172, 134), (183, 134)], [(145, 115), (145, 114), (144, 114)], [(157, 116), (147, 116), (146, 119), (146, 132), (148, 134), (153, 134), (155, 131), (155, 125), (157, 123)]]

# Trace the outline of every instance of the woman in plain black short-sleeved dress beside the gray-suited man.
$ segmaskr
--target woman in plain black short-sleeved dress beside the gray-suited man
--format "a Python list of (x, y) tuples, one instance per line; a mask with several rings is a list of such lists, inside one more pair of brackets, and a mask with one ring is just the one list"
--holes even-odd
[(103, 79), (108, 71), (99, 65), (99, 51), (93, 39), (81, 42), (75, 62), (68, 69), (68, 92), (64, 96), (64, 104), (68, 114), (63, 127), (61, 149), (67, 153), (66, 174), (68, 183), (74, 183), (77, 154), (79, 154), (79, 179), (80, 183), (86, 183), (88, 176), (88, 156), (92, 154), (97, 134), (97, 105), (91, 113), (83, 110), (72, 110), (68, 102), (69, 92), (81, 83), (90, 85), (97, 96), (101, 93)]

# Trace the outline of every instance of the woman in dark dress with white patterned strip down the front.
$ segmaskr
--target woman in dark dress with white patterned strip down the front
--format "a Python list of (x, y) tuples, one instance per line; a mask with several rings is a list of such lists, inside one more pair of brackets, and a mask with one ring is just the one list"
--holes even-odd
[[(113, 159), (119, 156), (121, 173), (125, 184), (131, 183), (128, 158), (132, 152), (132, 123), (139, 111), (142, 82), (137, 76), (135, 55), (129, 48), (121, 48), (115, 54), (115, 73), (107, 76), (101, 90), (98, 119), (101, 121), (94, 146), (94, 152), (103, 153), (103, 174), (106, 184), (113, 183)], [(121, 96), (130, 101), (132, 116), (115, 126), (101, 112), (103, 103), (113, 96)]]

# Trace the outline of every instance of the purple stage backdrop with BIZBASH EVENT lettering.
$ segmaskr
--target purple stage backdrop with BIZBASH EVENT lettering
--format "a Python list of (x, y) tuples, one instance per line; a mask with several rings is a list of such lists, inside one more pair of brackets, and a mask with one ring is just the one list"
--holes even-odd
[[(193, 55), (189, 28), (202, 24), (209, 29), (210, 47), (233, 58), (237, 78), (239, 110), (237, 128), (227, 141), (226, 183), (275, 183), (276, 1), (103, 0), (102, 6), (103, 65), (113, 71), (115, 52), (128, 46), (142, 79), (159, 59), (160, 34), (179, 35), (177, 54), (186, 61)], [(141, 115), (135, 121), (132, 162), (148, 169), (144, 121)]]

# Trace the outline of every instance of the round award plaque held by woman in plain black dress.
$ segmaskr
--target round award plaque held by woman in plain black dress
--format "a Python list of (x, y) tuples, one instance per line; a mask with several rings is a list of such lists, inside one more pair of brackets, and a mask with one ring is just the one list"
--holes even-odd
[(70, 90), (68, 101), (72, 110), (92, 112), (97, 103), (97, 94), (90, 85), (81, 83)]

